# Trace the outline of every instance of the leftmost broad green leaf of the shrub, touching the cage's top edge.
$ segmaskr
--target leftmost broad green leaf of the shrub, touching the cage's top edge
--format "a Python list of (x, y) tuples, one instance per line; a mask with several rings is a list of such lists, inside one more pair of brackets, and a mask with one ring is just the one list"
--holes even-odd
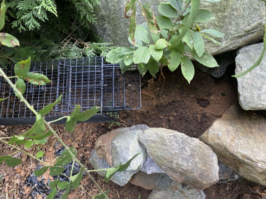
[(118, 47), (107, 53), (105, 61), (111, 64), (116, 64), (119, 63), (122, 59), (124, 59), (127, 55), (132, 54), (133, 52), (133, 48)]

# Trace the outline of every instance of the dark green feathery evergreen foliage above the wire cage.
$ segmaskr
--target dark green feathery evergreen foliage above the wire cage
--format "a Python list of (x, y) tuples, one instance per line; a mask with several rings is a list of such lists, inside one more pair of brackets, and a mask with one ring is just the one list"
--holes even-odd
[(4, 31), (20, 46), (0, 46), (0, 65), (33, 60), (106, 55), (113, 49), (89, 27), (96, 24), (98, 0), (8, 0)]

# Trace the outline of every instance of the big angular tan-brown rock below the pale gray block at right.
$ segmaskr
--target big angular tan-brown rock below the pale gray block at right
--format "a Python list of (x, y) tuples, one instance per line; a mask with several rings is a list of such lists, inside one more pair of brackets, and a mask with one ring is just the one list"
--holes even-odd
[(200, 137), (218, 160), (239, 175), (266, 186), (266, 119), (232, 105)]

